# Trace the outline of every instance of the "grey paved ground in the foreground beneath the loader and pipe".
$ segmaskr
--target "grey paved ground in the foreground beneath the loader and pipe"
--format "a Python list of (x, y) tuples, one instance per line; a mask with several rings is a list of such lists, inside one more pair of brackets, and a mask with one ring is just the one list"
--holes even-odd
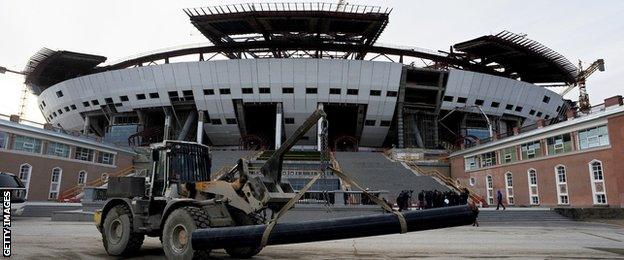
[[(95, 227), (49, 218), (13, 220), (17, 259), (114, 259), (107, 257)], [(218, 250), (216, 258), (227, 255)], [(265, 248), (255, 259), (396, 258), (624, 259), (624, 227), (602, 223), (482, 223), (441, 230)], [(133, 259), (164, 259), (158, 239), (146, 240)]]

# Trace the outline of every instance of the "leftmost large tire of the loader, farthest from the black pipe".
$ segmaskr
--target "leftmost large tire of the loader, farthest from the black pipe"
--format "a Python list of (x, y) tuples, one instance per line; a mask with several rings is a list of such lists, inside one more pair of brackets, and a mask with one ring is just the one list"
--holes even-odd
[(132, 231), (132, 212), (125, 204), (108, 211), (102, 227), (102, 243), (112, 256), (128, 256), (141, 249), (145, 235)]

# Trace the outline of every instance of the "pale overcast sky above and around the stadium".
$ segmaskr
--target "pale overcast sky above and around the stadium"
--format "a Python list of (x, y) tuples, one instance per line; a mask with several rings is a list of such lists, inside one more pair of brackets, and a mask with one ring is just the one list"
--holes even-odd
[[(0, 66), (22, 70), (40, 48), (98, 54), (114, 61), (138, 53), (206, 42), (182, 11), (258, 1), (0, 0)], [(264, 1), (267, 2), (267, 1)], [(328, 1), (335, 3), (337, 1)], [(622, 0), (347, 1), (392, 7), (378, 42), (435, 50), (502, 30), (527, 34), (574, 64), (604, 58), (606, 71), (588, 80), (592, 104), (624, 94)], [(23, 77), (0, 74), (0, 113), (18, 111)], [(567, 98), (577, 99), (578, 91)], [(25, 118), (44, 122), (36, 97)]]

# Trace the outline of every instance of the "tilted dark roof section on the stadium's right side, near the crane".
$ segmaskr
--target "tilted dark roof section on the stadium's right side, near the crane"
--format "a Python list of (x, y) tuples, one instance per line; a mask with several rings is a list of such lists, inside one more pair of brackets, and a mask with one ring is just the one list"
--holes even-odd
[[(524, 35), (502, 31), (453, 46), (480, 63), (531, 83), (576, 82), (578, 68), (563, 55)], [(491, 63), (496, 63), (492, 65)]]

